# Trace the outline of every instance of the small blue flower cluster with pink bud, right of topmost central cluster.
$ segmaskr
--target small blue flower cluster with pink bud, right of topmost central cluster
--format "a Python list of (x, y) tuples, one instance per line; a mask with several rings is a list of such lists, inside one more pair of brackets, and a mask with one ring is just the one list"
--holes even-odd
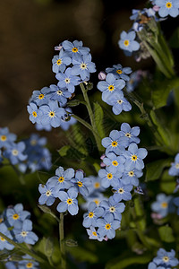
[(124, 98), (124, 89), (126, 82), (130, 81), (128, 74), (132, 73), (131, 67), (123, 67), (122, 65), (113, 65), (107, 68), (106, 73), (101, 72), (98, 77), (97, 88), (102, 91), (102, 100), (112, 106), (113, 113), (119, 115), (123, 110), (130, 111), (131, 104)]

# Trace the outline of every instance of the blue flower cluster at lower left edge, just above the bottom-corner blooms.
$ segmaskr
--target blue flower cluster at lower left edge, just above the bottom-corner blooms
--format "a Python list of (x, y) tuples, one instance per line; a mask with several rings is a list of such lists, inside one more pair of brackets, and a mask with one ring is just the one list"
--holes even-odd
[[(30, 212), (23, 210), (22, 204), (9, 206), (0, 216), (0, 232), (14, 242), (34, 245), (38, 236), (32, 231)], [(12, 250), (13, 245), (0, 237), (0, 250)]]

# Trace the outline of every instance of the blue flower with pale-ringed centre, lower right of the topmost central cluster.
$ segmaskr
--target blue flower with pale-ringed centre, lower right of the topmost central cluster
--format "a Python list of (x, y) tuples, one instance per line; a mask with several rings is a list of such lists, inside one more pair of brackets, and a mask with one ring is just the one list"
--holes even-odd
[(89, 81), (90, 80), (90, 73), (95, 73), (96, 65), (91, 62), (91, 55), (90, 53), (87, 55), (77, 55), (73, 56), (72, 58), (72, 74), (78, 75), (80, 74), (81, 80)]

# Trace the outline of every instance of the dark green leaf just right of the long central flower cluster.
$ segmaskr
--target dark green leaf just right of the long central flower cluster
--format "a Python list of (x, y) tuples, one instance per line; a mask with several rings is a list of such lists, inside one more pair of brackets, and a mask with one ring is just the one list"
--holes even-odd
[(150, 162), (146, 165), (146, 181), (156, 180), (160, 178), (163, 170), (169, 167), (171, 164), (171, 159), (164, 159)]

